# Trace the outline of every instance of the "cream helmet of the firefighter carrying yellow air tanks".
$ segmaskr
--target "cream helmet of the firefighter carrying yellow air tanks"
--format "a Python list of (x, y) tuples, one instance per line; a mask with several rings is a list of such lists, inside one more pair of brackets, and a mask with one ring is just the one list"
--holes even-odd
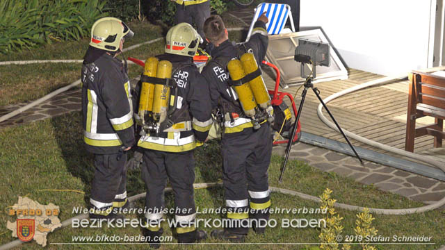
[(172, 26), (165, 37), (165, 53), (193, 57), (199, 45), (200, 35), (187, 23)]

